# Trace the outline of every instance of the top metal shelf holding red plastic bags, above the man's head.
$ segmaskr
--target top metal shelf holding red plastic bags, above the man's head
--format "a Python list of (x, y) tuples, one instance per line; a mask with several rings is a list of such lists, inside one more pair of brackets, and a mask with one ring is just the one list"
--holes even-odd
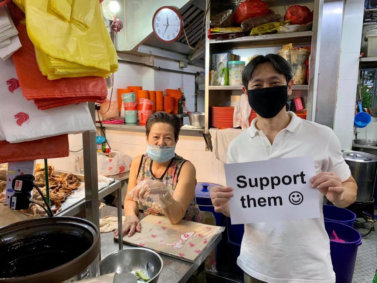
[(311, 31), (290, 32), (286, 34), (266, 34), (256, 36), (243, 36), (233, 39), (216, 40), (211, 39), (210, 44), (213, 43), (227, 43), (227, 44), (239, 44), (239, 43), (257, 43), (257, 42), (274, 42), (281, 40), (294, 40), (294, 39), (310, 39), (312, 35)]

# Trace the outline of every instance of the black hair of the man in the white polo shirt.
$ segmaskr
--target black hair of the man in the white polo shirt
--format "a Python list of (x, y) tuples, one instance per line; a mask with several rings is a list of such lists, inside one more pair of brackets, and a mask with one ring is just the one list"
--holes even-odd
[(285, 76), (287, 80), (287, 85), (290, 80), (293, 78), (292, 68), (283, 57), (276, 55), (276, 54), (267, 54), (267, 55), (258, 55), (253, 60), (251, 60), (245, 67), (244, 71), (242, 71), (242, 83), (246, 89), (248, 86), (249, 81), (253, 77), (253, 72), (259, 64), (270, 62), (276, 72)]

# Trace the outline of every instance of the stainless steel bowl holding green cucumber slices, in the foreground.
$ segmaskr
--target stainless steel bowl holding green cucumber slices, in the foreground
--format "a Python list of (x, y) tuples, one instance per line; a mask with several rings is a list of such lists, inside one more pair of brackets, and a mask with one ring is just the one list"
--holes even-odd
[(144, 248), (128, 248), (112, 252), (100, 262), (100, 275), (116, 272), (143, 270), (155, 283), (162, 271), (162, 258), (154, 251)]

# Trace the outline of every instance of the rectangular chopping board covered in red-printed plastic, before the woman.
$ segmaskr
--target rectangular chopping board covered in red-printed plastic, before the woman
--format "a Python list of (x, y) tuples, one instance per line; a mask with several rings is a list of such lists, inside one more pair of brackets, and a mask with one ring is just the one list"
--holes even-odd
[[(125, 235), (123, 243), (152, 249), (160, 254), (194, 262), (222, 227), (181, 220), (170, 224), (165, 216), (148, 215), (141, 222), (141, 232)], [(118, 237), (114, 237), (118, 241)]]

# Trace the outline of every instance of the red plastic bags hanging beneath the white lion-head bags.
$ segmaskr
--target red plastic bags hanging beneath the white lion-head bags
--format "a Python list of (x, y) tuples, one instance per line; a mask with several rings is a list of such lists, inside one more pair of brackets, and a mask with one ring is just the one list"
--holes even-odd
[(0, 163), (69, 156), (68, 135), (8, 143), (0, 141)]

